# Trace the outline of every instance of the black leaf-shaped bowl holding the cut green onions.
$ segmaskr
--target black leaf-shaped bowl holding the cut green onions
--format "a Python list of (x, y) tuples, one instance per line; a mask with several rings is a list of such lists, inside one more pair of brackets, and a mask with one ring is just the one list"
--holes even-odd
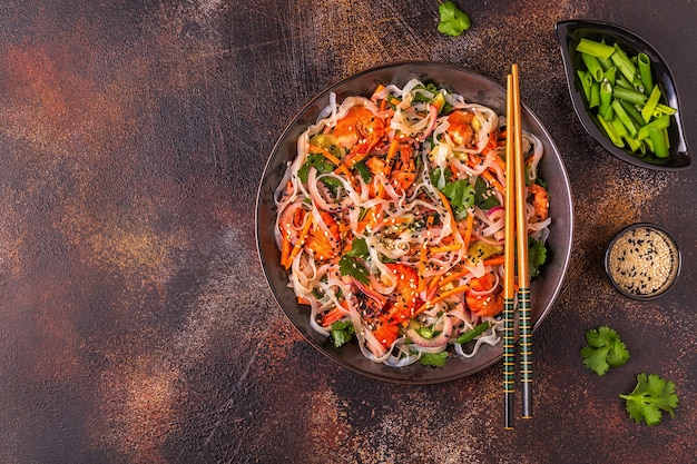
[[(678, 93), (666, 61), (658, 55), (654, 47), (636, 33), (619, 26), (605, 22), (568, 20), (558, 22), (556, 28), (573, 109), (586, 131), (605, 147), (606, 150), (632, 165), (657, 170), (688, 169), (690, 167), (690, 157), (685, 140), (683, 120), (680, 118)], [(651, 59), (654, 82), (658, 85), (665, 103), (678, 110), (671, 117), (673, 120), (668, 128), (670, 150), (667, 158), (639, 158), (632, 154), (630, 149), (615, 146), (602, 129), (600, 129), (598, 121), (589, 112), (588, 102), (583, 98), (580, 79), (576, 72), (582, 67), (581, 53), (576, 51), (576, 46), (581, 38), (596, 41), (605, 39), (606, 42), (610, 45), (617, 42), (629, 56), (636, 56), (638, 52), (642, 51)]]

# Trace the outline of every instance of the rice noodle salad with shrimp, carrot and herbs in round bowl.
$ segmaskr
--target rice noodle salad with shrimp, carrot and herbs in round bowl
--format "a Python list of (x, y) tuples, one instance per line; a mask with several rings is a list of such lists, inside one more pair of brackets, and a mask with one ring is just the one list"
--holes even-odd
[[(312, 327), (395, 367), (498, 344), (504, 145), (504, 116), (432, 83), (332, 93), (274, 194), (281, 265)], [(523, 150), (534, 277), (551, 218), (542, 144), (524, 132)]]

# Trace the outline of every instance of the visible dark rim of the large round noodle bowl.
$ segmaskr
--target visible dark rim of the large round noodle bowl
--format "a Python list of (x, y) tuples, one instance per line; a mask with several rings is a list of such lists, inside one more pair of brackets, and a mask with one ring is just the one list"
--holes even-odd
[[(468, 82), (468, 79), (477, 79), (479, 85), (484, 86), (487, 89), (492, 91), (492, 95), (490, 97), (487, 95), (478, 95), (478, 97), (481, 97), (484, 99), (489, 97), (491, 99), (504, 100), (504, 96), (505, 96), (505, 90), (503, 89), (502, 86), (494, 82), (490, 78), (487, 78), (468, 68), (463, 68), (461, 66), (451, 65), (446, 62), (424, 61), (424, 60), (396, 61), (396, 62), (390, 62), (390, 63), (376, 66), (373, 68), (367, 68), (365, 70), (362, 70), (348, 77), (345, 77), (325, 87), (323, 90), (315, 93), (308, 100), (308, 102), (304, 105), (302, 109), (295, 113), (294, 118), (286, 126), (285, 130), (281, 134), (281, 136), (276, 140), (276, 144), (274, 145), (274, 147), (272, 148), (269, 152), (269, 156), (266, 161), (266, 166), (264, 168), (264, 172), (262, 175), (262, 178), (258, 185), (257, 198), (256, 198), (255, 226), (256, 226), (257, 254), (259, 257), (259, 261), (262, 264), (264, 276), (272, 290), (272, 294), (274, 295), (274, 298), (277, 305), (281, 307), (286, 318), (292, 323), (292, 325), (297, 329), (297, 332), (300, 332), (301, 335), (303, 335), (305, 340), (308, 342), (313, 347), (318, 349), (323, 355), (331, 358), (333, 362), (337, 363), (338, 365), (342, 365), (343, 367), (348, 368), (350, 371), (353, 371), (361, 375), (380, 379), (380, 381), (401, 383), (401, 384), (434, 384), (434, 383), (449, 382), (449, 381), (453, 381), (453, 379), (458, 379), (458, 378), (462, 378), (462, 377), (475, 374), (477, 372), (480, 372), (500, 362), (502, 358), (501, 344), (498, 344), (494, 347), (483, 347), (483, 348), (489, 348), (489, 349), (485, 349), (485, 353), (484, 353), (485, 356), (482, 356), (484, 359), (488, 359), (488, 362), (479, 364), (475, 368), (472, 368), (471, 366), (472, 363), (470, 359), (460, 359), (457, 357), (451, 357), (449, 363), (454, 362), (458, 365), (460, 364), (464, 365), (463, 368), (465, 371), (463, 372), (458, 371), (458, 368), (454, 368), (454, 372), (453, 372), (453, 368), (450, 368), (448, 372), (438, 373), (438, 371), (432, 371), (433, 368), (425, 368), (425, 367), (421, 368), (422, 366), (419, 366), (420, 371), (416, 374), (412, 373), (405, 376), (401, 374), (401, 372), (403, 372), (405, 368), (387, 367), (382, 364), (373, 363), (369, 361), (367, 358), (364, 358), (365, 363), (370, 363), (370, 366), (369, 366), (370, 368), (365, 369), (362, 367), (362, 365), (365, 365), (365, 363), (359, 362), (359, 365), (354, 365), (352, 364), (352, 362), (346, 361), (345, 357), (342, 357), (342, 355), (337, 354), (338, 351), (344, 349), (343, 347), (336, 349), (336, 348), (332, 348), (331, 346), (326, 346), (326, 344), (317, 342), (316, 336), (308, 335), (307, 333), (301, 329), (298, 324), (293, 319), (291, 314), (288, 314), (288, 310), (285, 308), (283, 304), (284, 298), (282, 298), (282, 295), (279, 295), (279, 289), (276, 288), (272, 284), (272, 279), (274, 278), (274, 276), (269, 274), (271, 270), (267, 268), (267, 266), (265, 266), (264, 248), (265, 246), (267, 248), (271, 248), (272, 246), (275, 247), (275, 244), (264, 244), (265, 237), (263, 236), (264, 234), (262, 234), (262, 230), (261, 230), (262, 227), (269, 227), (268, 224), (266, 224), (265, 226), (262, 224), (264, 223), (265, 219), (266, 220), (269, 219), (267, 217), (262, 217), (263, 209), (265, 206), (263, 205), (263, 198), (264, 198), (264, 195), (268, 195), (268, 192), (264, 192), (264, 189), (265, 189), (265, 184), (268, 184), (267, 179), (269, 178), (269, 176), (272, 176), (272, 172), (269, 171), (272, 170), (272, 168), (274, 168), (272, 165), (274, 164), (275, 158), (278, 156), (277, 152), (282, 148), (282, 145), (283, 144), (287, 145), (288, 137), (292, 137), (293, 134), (297, 130), (296, 126), (300, 124), (298, 119), (302, 119), (303, 117), (307, 117), (310, 115), (312, 115), (311, 119), (316, 118), (317, 112), (314, 112), (314, 113), (312, 112), (313, 107), (316, 108), (317, 102), (322, 102), (322, 106), (320, 107), (320, 109), (324, 108), (326, 106), (326, 102), (328, 101), (327, 96), (330, 95), (330, 92), (340, 90), (337, 92), (337, 99), (343, 99), (346, 95), (355, 95), (354, 90), (350, 90), (346, 88), (346, 86), (348, 86), (351, 82), (357, 79), (369, 79), (369, 78), (372, 78), (373, 82), (377, 82), (381, 80), (379, 79), (379, 76), (383, 76), (385, 72), (392, 76), (393, 79), (396, 81), (406, 79), (405, 78), (405, 75), (406, 75), (406, 76), (411, 76), (412, 78), (421, 77), (423, 78), (423, 80), (426, 80), (426, 81), (436, 81), (445, 87), (450, 87), (451, 89), (453, 88), (454, 82), (451, 82), (448, 80), (439, 81), (438, 78), (433, 75), (455, 73), (459, 77), (459, 79), (461, 80), (464, 79), (464, 82)], [(406, 80), (400, 83), (405, 83), (405, 82)], [(457, 87), (457, 85), (454, 87)], [(460, 91), (460, 93), (467, 93), (467, 92)], [(472, 101), (480, 101), (480, 100), (472, 100)], [(532, 330), (534, 332), (541, 324), (542, 319), (544, 319), (547, 315), (551, 312), (554, 305), (554, 302), (557, 297), (559, 296), (559, 293), (561, 292), (561, 288), (562, 288), (568, 268), (569, 268), (571, 251), (573, 248), (573, 200), (572, 200), (572, 194), (571, 194), (571, 185), (570, 185), (569, 177), (566, 170), (566, 166), (563, 164), (563, 159), (561, 157), (561, 152), (559, 151), (558, 147), (556, 146), (554, 141), (551, 138), (551, 135), (542, 125), (540, 119), (524, 103), (522, 103), (521, 106), (523, 109), (523, 124), (528, 128), (532, 126), (536, 129), (534, 134), (539, 138), (541, 138), (541, 141), (544, 145), (546, 150), (551, 150), (553, 154), (552, 155), (553, 160), (550, 161), (550, 166), (551, 166), (550, 169), (552, 169), (554, 174), (559, 177), (559, 179), (554, 181), (553, 184), (554, 186), (557, 186), (554, 187), (554, 189), (557, 190), (556, 195), (558, 198), (563, 197), (563, 200), (560, 200), (558, 203), (559, 211), (563, 213), (562, 215), (563, 219), (560, 218), (557, 221), (557, 225), (553, 226), (554, 228), (558, 228), (557, 233), (559, 235), (558, 235), (557, 240), (558, 240), (558, 245), (560, 245), (560, 249), (552, 249), (552, 259), (551, 259), (551, 263), (549, 264), (549, 267), (550, 267), (549, 272), (553, 273), (552, 275), (557, 277), (556, 277), (556, 280), (553, 280), (553, 286), (551, 286), (551, 289), (544, 292), (547, 296), (547, 300), (544, 302), (544, 305), (542, 305), (544, 307), (539, 309), (537, 315), (534, 314), (534, 307), (533, 307)], [(497, 110), (499, 110), (499, 108), (497, 108)], [(308, 115), (308, 111), (310, 111), (310, 115)], [(498, 111), (498, 112), (501, 113), (501, 111)], [(302, 124), (306, 127), (310, 122), (303, 119)], [(295, 140), (293, 140), (293, 147), (294, 146), (295, 146)], [(275, 164), (278, 164), (278, 161), (276, 160)], [(273, 189), (275, 189), (275, 187), (276, 186), (274, 186)], [(266, 188), (268, 188), (268, 186), (266, 186)], [(273, 195), (273, 191), (272, 191), (272, 195)], [(567, 211), (568, 211), (568, 217), (567, 217)], [(271, 227), (273, 227), (273, 225)], [(286, 277), (286, 282), (287, 282), (287, 277)], [(534, 285), (536, 285), (536, 282), (532, 283), (533, 295), (534, 295)], [(411, 366), (406, 366), (406, 367), (411, 367)], [(429, 369), (428, 371), (429, 373), (425, 375), (421, 374), (421, 371), (423, 369)], [(430, 374), (430, 373), (435, 373), (435, 374)]]

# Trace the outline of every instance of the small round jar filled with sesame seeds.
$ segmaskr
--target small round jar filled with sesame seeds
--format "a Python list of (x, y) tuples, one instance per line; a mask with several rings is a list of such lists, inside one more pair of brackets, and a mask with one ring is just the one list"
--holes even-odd
[(635, 299), (651, 299), (675, 283), (680, 253), (673, 237), (661, 228), (636, 224), (610, 241), (605, 265), (620, 293)]

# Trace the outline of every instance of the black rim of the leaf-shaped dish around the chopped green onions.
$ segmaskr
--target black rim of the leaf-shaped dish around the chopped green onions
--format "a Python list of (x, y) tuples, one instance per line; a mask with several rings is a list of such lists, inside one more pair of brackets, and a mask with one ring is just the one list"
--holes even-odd
[[(587, 19), (567, 19), (558, 21), (554, 24), (557, 31), (557, 39), (561, 49), (562, 62), (565, 67), (565, 75), (567, 80), (567, 87), (571, 97), (573, 110), (581, 122), (581, 126), (588, 135), (590, 135), (598, 144), (600, 144), (607, 151), (616, 156), (617, 158), (627, 161), (631, 165), (662, 171), (683, 171), (691, 168), (691, 158), (687, 147), (687, 138), (685, 137), (685, 128), (683, 118), (680, 115), (680, 105), (678, 90), (673, 78), (673, 72), (668, 67), (667, 61), (659, 53), (659, 51), (651, 46), (646, 39), (638, 33), (615, 23), (587, 20)], [(615, 146), (609, 138), (600, 130), (593, 118), (590, 117), (587, 102), (581, 96), (581, 91), (577, 86), (576, 70), (573, 69), (572, 52), (570, 50), (570, 43), (573, 40), (573, 34), (579, 30), (592, 30), (595, 34), (612, 37), (616, 41), (627, 43), (631, 49), (645, 51), (651, 58), (654, 66), (654, 75), (659, 75), (659, 87), (664, 93), (664, 98), (669, 99), (669, 106), (677, 108), (677, 112), (674, 115), (673, 124), (673, 138), (669, 159), (673, 160), (673, 165), (652, 164), (647, 160), (640, 159), (634, 156), (628, 149), (619, 148)]]

